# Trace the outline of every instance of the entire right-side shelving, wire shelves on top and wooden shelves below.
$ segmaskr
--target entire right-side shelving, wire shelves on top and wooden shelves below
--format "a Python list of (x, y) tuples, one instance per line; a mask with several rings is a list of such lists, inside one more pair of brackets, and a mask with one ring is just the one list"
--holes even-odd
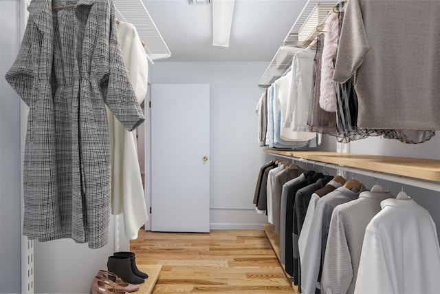
[[(317, 28), (322, 27), (327, 16), (338, 3), (340, 0), (307, 1), (292, 29), (260, 78), (259, 87), (270, 87), (277, 78), (289, 70), (298, 48), (305, 48), (316, 39), (319, 34)], [(320, 165), (324, 169), (328, 167), (338, 171), (347, 171), (413, 187), (440, 191), (440, 160), (283, 149), (264, 149), (264, 151), (273, 156), (287, 158), (292, 162), (305, 162), (307, 165)], [(272, 224), (263, 224), (263, 229), (279, 260), (279, 234), (274, 232)], [(285, 275), (289, 282), (293, 282), (292, 277), (287, 273)], [(292, 286), (295, 293), (298, 293), (298, 288)]]

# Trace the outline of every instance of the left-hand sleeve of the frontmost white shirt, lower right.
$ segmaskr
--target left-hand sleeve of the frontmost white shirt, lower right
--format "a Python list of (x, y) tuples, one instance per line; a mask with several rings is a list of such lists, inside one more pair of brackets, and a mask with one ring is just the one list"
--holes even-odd
[(375, 222), (370, 222), (366, 227), (362, 245), (355, 294), (399, 293), (398, 289), (393, 287), (395, 279), (388, 271), (388, 257)]

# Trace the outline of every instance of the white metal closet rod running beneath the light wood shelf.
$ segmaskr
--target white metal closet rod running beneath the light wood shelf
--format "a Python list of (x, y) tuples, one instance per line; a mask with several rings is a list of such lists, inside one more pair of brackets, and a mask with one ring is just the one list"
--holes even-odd
[(391, 182), (399, 182), (400, 184), (403, 184), (403, 185), (419, 187), (419, 188), (423, 188), (423, 189), (428, 189), (428, 190), (440, 192), (440, 184), (437, 182), (427, 182), (427, 181), (423, 181), (423, 180), (415, 180), (412, 178), (406, 178), (404, 176), (393, 176), (392, 174), (384, 174), (380, 171), (368, 171), (365, 169), (358, 169), (356, 167), (347, 167), (345, 165), (335, 165), (333, 163), (316, 161), (316, 160), (309, 160), (309, 159), (299, 158), (299, 157), (294, 157), (294, 156), (283, 156), (281, 154), (274, 154), (274, 153), (270, 153), (270, 152), (269, 152), (269, 154), (271, 154), (273, 156), (277, 156), (277, 157), (288, 158), (288, 159), (294, 160), (294, 161), (304, 162), (305, 164), (320, 165), (321, 167), (325, 167), (325, 168), (329, 167), (331, 169), (340, 169), (342, 171), (347, 171), (349, 173), (360, 174), (363, 176), (369, 176), (371, 178), (376, 178), (376, 179), (381, 179), (381, 180), (389, 180)]

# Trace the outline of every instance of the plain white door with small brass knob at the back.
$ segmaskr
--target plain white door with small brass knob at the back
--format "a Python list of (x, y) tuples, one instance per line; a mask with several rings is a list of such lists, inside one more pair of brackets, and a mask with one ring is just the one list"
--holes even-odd
[(208, 84), (151, 86), (151, 231), (209, 232)]

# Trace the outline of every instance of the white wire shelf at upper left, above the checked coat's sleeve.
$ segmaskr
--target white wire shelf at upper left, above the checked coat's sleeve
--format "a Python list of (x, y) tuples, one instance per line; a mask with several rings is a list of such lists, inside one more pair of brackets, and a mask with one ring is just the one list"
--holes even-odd
[(114, 0), (114, 3), (116, 17), (120, 21), (131, 23), (135, 26), (137, 34), (145, 43), (145, 51), (149, 59), (155, 61), (171, 56), (168, 46), (157, 30), (142, 0)]

